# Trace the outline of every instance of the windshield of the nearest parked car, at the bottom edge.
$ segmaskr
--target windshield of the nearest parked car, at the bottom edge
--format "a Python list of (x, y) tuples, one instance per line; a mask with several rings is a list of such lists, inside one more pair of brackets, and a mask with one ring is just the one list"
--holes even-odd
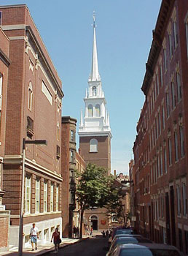
[(120, 251), (120, 256), (180, 256), (179, 252), (173, 249), (124, 249)]

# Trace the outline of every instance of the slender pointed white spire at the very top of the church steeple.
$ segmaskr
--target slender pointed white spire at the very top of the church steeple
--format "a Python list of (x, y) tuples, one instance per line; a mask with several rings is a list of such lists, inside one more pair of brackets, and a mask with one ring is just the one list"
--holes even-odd
[(96, 42), (96, 33), (95, 33), (95, 12), (93, 12), (93, 56), (92, 56), (92, 67), (90, 80), (101, 80), (98, 72), (98, 56), (97, 56), (97, 42)]

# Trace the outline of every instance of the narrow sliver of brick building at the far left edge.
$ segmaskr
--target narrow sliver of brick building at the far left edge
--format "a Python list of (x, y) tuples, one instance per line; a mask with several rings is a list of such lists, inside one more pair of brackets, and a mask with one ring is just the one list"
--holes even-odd
[(9, 38), (4, 34), (4, 31), (2, 31), (1, 27), (0, 38), (0, 252), (2, 252), (7, 250), (9, 247), (10, 213), (5, 209), (5, 206), (2, 205), (2, 197), (4, 196), (2, 181), (7, 110), (7, 82), (9, 64), (11, 63), (11, 61), (9, 60)]

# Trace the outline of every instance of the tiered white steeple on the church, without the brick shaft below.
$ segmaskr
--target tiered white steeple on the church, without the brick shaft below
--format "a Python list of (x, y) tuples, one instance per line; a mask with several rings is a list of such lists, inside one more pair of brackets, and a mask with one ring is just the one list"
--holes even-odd
[(106, 110), (106, 99), (98, 71), (98, 54), (95, 31), (95, 13), (93, 13), (93, 54), (92, 67), (88, 79), (88, 91), (85, 94), (85, 117), (80, 121), (79, 135), (108, 135), (111, 138), (109, 114)]

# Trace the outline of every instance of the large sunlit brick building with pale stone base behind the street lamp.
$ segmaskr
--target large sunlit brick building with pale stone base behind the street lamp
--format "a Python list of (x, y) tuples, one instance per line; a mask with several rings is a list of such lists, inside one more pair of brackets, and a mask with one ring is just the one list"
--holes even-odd
[(7, 118), (3, 166), (3, 203), (11, 211), (10, 240), (17, 246), (20, 214), (23, 138), (47, 140), (26, 145), (23, 246), (31, 224), (39, 244), (50, 241), (61, 217), (61, 81), (25, 4), (0, 7), (1, 29), (9, 39)]

